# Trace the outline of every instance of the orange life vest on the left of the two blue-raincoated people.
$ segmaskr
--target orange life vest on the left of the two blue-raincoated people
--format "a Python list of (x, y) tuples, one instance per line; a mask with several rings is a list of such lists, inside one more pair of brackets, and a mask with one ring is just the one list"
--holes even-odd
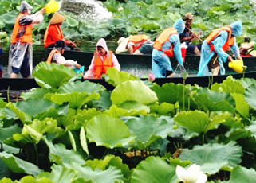
[[(156, 38), (156, 41), (153, 45), (154, 49), (157, 49), (159, 51), (163, 51), (167, 56), (173, 57), (173, 46), (171, 44), (170, 49), (168, 50), (162, 50), (163, 44), (166, 43), (166, 41), (169, 41), (169, 38), (171, 37), (172, 34), (178, 34), (178, 31), (175, 28), (167, 28), (164, 29), (162, 33)], [(171, 43), (171, 41), (170, 41)]]

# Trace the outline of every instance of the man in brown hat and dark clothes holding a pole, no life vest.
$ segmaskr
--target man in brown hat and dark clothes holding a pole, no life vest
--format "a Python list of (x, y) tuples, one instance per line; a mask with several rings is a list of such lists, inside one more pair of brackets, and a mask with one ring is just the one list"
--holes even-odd
[(187, 44), (187, 50), (186, 50), (187, 53), (196, 54), (196, 55), (200, 56), (200, 49), (201, 49), (202, 43), (197, 44), (197, 45), (190, 44), (192, 41), (195, 41), (195, 39), (200, 37), (201, 33), (202, 33), (202, 32), (199, 32), (199, 33), (195, 34), (191, 31), (191, 29), (192, 29), (191, 24), (192, 24), (193, 19), (194, 19), (194, 17), (192, 16), (191, 13), (187, 13), (183, 17), (183, 20), (186, 21), (185, 29), (184, 29), (183, 33), (181, 33), (179, 35), (179, 39), (180, 39), (181, 43), (185, 42)]

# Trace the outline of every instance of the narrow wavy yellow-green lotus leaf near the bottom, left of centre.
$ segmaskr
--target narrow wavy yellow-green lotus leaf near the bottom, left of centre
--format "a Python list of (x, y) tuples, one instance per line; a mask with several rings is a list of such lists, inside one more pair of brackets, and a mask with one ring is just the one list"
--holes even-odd
[(120, 157), (114, 155), (105, 156), (103, 160), (93, 159), (85, 162), (85, 165), (89, 165), (91, 169), (108, 169), (109, 166), (116, 166), (124, 174), (124, 177), (128, 178), (130, 176), (130, 169), (128, 165), (123, 164), (123, 160)]

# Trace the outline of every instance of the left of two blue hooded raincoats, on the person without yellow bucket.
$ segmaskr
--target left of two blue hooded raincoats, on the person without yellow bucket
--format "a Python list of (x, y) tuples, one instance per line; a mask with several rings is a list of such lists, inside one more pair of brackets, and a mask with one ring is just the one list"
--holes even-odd
[[(173, 27), (178, 31), (179, 34), (183, 33), (183, 30), (185, 29), (183, 20), (179, 19), (179, 20), (175, 21), (175, 24), (173, 25)], [(171, 41), (171, 43), (170, 43), (170, 41)], [(180, 65), (183, 65), (183, 59), (182, 59), (181, 50), (180, 50), (179, 35), (173, 34), (169, 37), (169, 41), (166, 41), (163, 44), (161, 51), (159, 51), (157, 49), (153, 49), (152, 71), (156, 77), (166, 77), (167, 71), (172, 72), (170, 58), (166, 54), (163, 53), (163, 50), (168, 50), (171, 48), (171, 44), (174, 45), (173, 53), (174, 53), (176, 60), (179, 61)]]

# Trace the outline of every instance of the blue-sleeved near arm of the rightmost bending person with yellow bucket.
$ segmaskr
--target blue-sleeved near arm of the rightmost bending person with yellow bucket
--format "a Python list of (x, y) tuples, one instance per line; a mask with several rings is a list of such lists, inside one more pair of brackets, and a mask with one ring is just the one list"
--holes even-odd
[(223, 45), (226, 43), (227, 38), (228, 38), (228, 33), (223, 30), (219, 33), (219, 36), (217, 38), (215, 38), (214, 41), (211, 41), (211, 43), (214, 44), (214, 46), (215, 46), (216, 53), (219, 55), (221, 60), (223, 60), (224, 62), (226, 62), (227, 58), (228, 58), (228, 61), (232, 60), (232, 57), (229, 56), (223, 50)]

